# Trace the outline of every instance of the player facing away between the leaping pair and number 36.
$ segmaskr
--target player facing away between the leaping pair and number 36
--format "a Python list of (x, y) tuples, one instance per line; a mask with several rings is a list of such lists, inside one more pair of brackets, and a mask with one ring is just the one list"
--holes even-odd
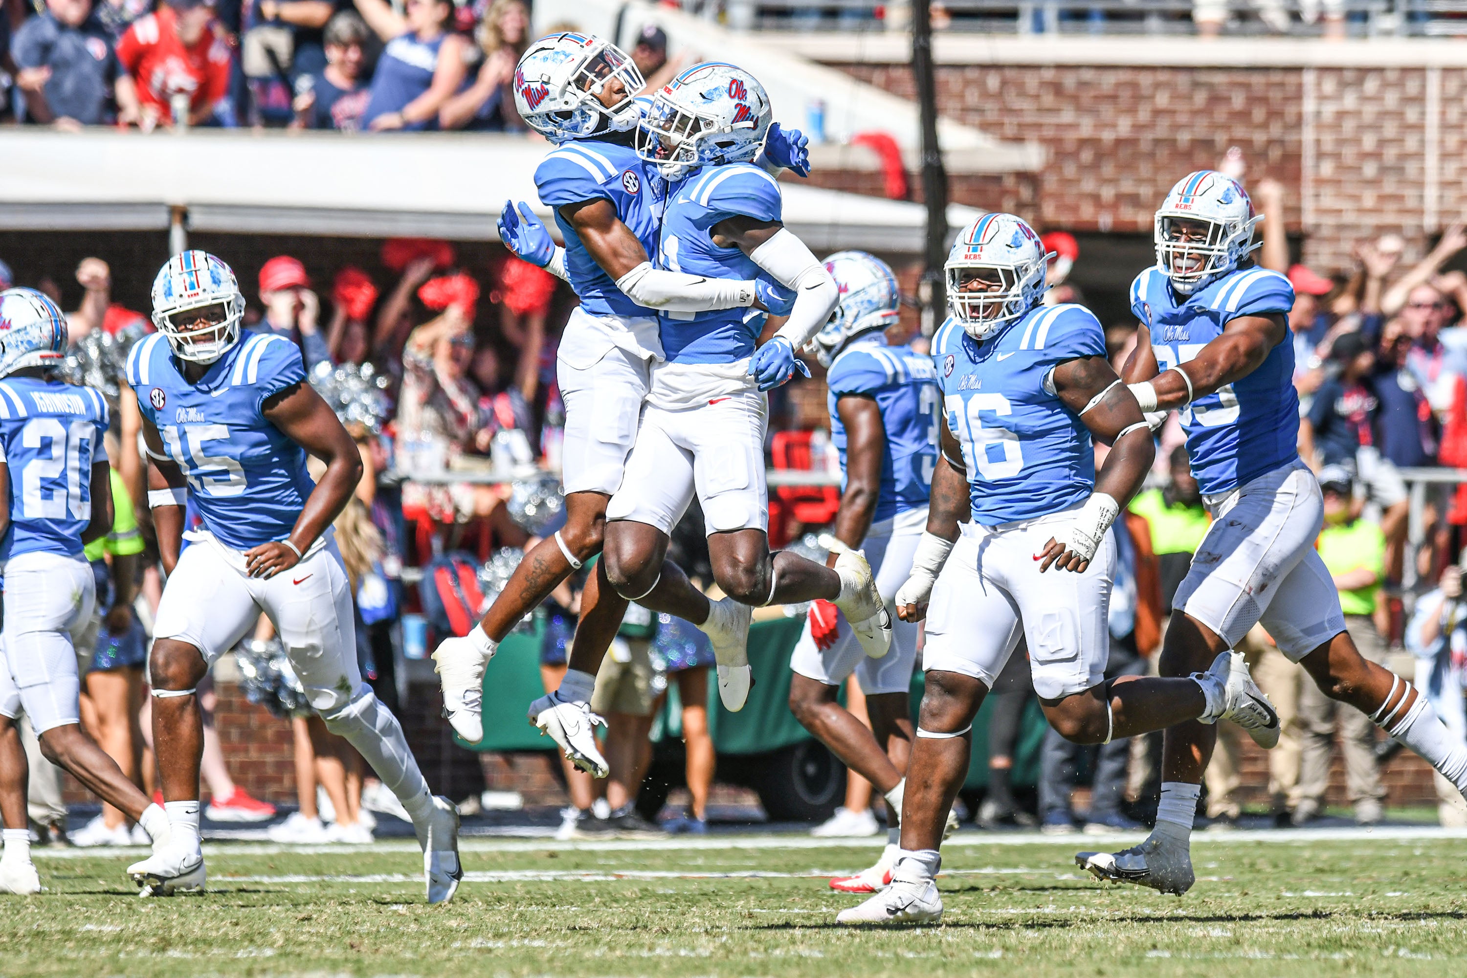
[[(930, 356), (886, 345), (885, 330), (901, 312), (896, 277), (886, 262), (864, 251), (842, 251), (824, 265), (841, 304), (805, 349), (827, 371), (830, 437), (845, 477), (835, 540), (866, 553), (882, 601), (890, 603), (911, 573), (927, 525), (942, 394)], [(915, 622), (893, 623), (892, 651), (870, 658), (836, 607), (816, 601), (789, 660), (795, 673), (791, 713), (886, 798), (886, 849), (870, 869), (830, 880), (844, 893), (873, 893), (890, 883), (912, 739), (908, 701), (915, 657)], [(866, 692), (870, 729), (836, 698), (852, 672)]]

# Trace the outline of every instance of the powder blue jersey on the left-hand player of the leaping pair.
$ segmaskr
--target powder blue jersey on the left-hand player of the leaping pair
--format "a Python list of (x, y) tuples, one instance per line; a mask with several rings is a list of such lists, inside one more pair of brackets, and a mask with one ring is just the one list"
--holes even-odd
[(653, 312), (622, 295), (616, 280), (591, 258), (571, 221), (560, 216), (560, 208), (584, 201), (610, 201), (616, 217), (631, 229), (647, 255), (654, 257), (665, 186), (662, 176), (643, 163), (631, 147), (600, 139), (560, 144), (535, 169), (540, 199), (555, 210), (555, 221), (565, 236), (565, 270), (571, 287), (581, 299), (581, 308), (591, 315), (650, 317)]

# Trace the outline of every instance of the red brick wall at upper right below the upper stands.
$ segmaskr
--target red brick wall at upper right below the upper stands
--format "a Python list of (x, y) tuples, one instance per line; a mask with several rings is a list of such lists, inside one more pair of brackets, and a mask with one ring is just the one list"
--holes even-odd
[[(914, 97), (905, 65), (841, 67)], [(1288, 226), (1323, 271), (1386, 230), (1419, 255), (1467, 211), (1464, 67), (942, 65), (937, 88), (943, 114), (1047, 151), (1039, 173), (954, 177), (952, 199), (1045, 229), (1150, 233), (1166, 189), (1229, 147), (1248, 180), (1285, 185)], [(874, 173), (823, 182), (880, 192)]]

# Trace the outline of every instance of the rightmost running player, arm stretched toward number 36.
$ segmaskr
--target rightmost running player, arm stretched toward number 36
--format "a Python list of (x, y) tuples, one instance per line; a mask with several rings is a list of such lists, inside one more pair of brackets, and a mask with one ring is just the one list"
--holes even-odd
[[(1160, 672), (1185, 674), (1262, 623), (1325, 695), (1364, 713), (1467, 790), (1467, 745), (1411, 683), (1360, 655), (1314, 551), (1323, 496), (1295, 450), (1294, 289), (1251, 262), (1260, 220), (1231, 177), (1188, 174), (1156, 211), (1156, 267), (1131, 286), (1141, 333), (1125, 378), (1156, 418), (1181, 411), (1191, 471), (1213, 518), (1172, 601), (1179, 613)], [(1276, 730), (1262, 733), (1265, 746), (1278, 739)], [(1081, 852), (1077, 862), (1105, 880), (1185, 893), (1193, 815), (1215, 742), (1216, 732), (1197, 724), (1168, 730), (1156, 828), (1140, 846)]]

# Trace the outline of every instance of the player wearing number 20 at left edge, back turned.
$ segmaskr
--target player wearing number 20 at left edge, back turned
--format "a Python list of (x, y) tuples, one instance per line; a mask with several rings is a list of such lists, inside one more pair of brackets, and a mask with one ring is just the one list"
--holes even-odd
[(142, 826), (154, 852), (169, 820), (81, 726), (76, 635), (91, 620), (95, 581), (85, 544), (111, 529), (107, 402), (56, 380), (66, 317), (34, 289), (0, 292), (0, 893), (40, 893), (26, 828), (28, 767), (16, 729), (31, 718), (41, 754)]

